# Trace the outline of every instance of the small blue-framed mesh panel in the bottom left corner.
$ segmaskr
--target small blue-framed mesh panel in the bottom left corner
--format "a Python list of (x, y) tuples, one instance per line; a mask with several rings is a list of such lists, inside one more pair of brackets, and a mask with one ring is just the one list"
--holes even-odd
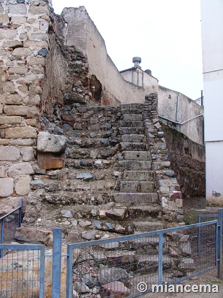
[(0, 258), (1, 298), (43, 297), (44, 247), (0, 244), (0, 249), (6, 251)]

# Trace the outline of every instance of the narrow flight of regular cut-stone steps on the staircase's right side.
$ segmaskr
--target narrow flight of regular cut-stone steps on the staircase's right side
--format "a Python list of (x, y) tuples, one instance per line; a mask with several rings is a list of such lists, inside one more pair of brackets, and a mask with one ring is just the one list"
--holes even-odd
[[(161, 206), (149, 143), (143, 119), (143, 104), (121, 104), (121, 120), (118, 134), (121, 136), (119, 150), (122, 160), (118, 161), (123, 171), (119, 192), (113, 194), (113, 201), (128, 209), (128, 216), (138, 232), (151, 231), (164, 227), (161, 219)], [(159, 219), (159, 220), (158, 220)]]

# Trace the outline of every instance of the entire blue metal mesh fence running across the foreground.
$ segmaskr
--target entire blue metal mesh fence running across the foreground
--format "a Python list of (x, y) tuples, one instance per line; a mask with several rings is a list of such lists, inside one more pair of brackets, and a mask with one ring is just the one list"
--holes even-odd
[[(44, 253), (44, 245), (0, 244), (7, 249), (0, 259), (0, 297), (43, 298), (44, 270), (50, 280), (45, 288), (52, 287), (54, 298), (133, 298), (215, 268), (222, 279), (222, 239), (223, 209), (218, 220), (68, 244), (66, 254), (61, 254), (61, 229), (55, 228), (52, 254)], [(44, 257), (53, 258), (52, 275)], [(66, 285), (61, 257), (67, 258)]]

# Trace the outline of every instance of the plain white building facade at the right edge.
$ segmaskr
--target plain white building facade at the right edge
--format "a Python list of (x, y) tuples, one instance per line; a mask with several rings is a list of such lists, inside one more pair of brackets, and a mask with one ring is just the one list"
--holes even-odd
[(223, 206), (223, 0), (201, 0), (206, 199)]

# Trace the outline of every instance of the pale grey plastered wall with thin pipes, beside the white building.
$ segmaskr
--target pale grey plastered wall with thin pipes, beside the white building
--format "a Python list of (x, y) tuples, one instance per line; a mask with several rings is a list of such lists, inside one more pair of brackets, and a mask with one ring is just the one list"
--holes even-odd
[[(180, 92), (159, 86), (158, 112), (169, 120), (177, 120), (177, 96), (179, 96), (178, 121), (180, 123), (204, 113), (204, 107), (197, 104)], [(197, 144), (204, 145), (204, 118), (203, 116), (192, 119), (182, 125), (174, 127)]]

